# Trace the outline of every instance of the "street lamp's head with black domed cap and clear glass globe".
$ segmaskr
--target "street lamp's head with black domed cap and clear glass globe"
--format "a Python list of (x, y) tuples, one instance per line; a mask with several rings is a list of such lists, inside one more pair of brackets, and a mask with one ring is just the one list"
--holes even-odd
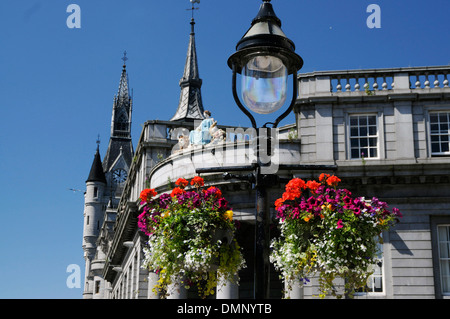
[[(236, 52), (228, 59), (233, 70), (233, 90), (236, 91), (236, 73), (241, 74), (241, 96), (245, 106), (259, 114), (279, 110), (287, 99), (289, 75), (294, 78), (291, 106), (274, 122), (274, 127), (292, 110), (297, 94), (296, 73), (303, 66), (303, 59), (295, 53), (295, 45), (281, 29), (281, 20), (275, 14), (270, 1), (263, 0), (250, 28), (236, 45)], [(239, 108), (255, 120), (238, 101)]]

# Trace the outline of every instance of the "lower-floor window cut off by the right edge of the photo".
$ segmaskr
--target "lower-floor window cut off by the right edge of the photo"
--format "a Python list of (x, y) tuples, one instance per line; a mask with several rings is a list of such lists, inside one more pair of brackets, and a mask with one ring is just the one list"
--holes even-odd
[(442, 294), (450, 294), (450, 225), (438, 225), (438, 254)]

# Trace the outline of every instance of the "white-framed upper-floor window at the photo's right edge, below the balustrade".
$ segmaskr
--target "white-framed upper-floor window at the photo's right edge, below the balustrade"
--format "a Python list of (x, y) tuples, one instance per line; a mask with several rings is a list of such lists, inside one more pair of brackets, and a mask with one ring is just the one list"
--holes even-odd
[(430, 113), (432, 155), (450, 155), (450, 112)]

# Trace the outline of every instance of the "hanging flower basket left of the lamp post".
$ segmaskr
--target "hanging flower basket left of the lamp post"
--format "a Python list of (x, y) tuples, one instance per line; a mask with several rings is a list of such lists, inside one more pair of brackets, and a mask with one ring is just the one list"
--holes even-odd
[(164, 297), (170, 284), (198, 288), (200, 297), (214, 293), (217, 277), (238, 283), (245, 262), (236, 239), (233, 211), (220, 189), (203, 189), (196, 176), (178, 179), (171, 194), (153, 189), (140, 194), (139, 228), (149, 236), (142, 267), (159, 274), (155, 290)]

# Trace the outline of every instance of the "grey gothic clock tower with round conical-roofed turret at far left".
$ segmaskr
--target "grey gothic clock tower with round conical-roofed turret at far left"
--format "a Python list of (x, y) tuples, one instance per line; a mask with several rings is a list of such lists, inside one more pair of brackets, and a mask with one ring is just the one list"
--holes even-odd
[[(103, 298), (105, 289), (101, 270), (105, 263), (104, 238), (115, 220), (117, 204), (122, 195), (133, 159), (131, 140), (132, 98), (128, 89), (126, 52), (123, 57), (119, 91), (114, 96), (111, 136), (103, 162), (99, 146), (86, 180), (83, 250), (85, 257), (85, 287), (83, 298)], [(100, 144), (97, 141), (97, 144)]]

